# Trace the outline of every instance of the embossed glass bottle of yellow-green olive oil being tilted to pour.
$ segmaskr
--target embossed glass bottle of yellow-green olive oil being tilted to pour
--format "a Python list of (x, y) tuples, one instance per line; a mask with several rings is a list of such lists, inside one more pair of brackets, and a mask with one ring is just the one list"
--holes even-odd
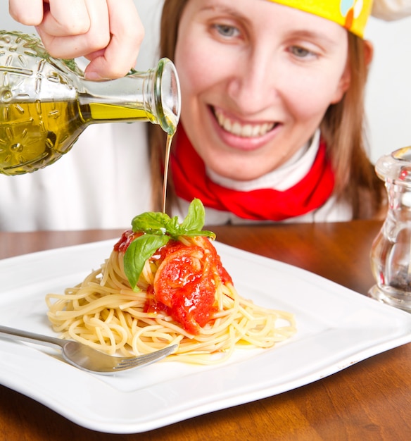
[(87, 81), (74, 60), (51, 57), (34, 35), (0, 31), (0, 173), (49, 166), (93, 123), (150, 121), (172, 136), (180, 107), (167, 58), (147, 72)]

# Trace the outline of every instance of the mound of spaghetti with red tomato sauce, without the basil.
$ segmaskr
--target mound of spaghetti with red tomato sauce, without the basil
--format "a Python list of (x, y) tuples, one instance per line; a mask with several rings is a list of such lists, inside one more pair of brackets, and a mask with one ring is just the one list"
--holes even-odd
[(49, 320), (63, 338), (124, 355), (177, 343), (169, 359), (213, 364), (235, 348), (272, 347), (296, 332), (291, 313), (239, 296), (208, 237), (167, 241), (146, 259), (133, 289), (125, 253), (143, 234), (125, 232), (80, 285), (47, 294)]

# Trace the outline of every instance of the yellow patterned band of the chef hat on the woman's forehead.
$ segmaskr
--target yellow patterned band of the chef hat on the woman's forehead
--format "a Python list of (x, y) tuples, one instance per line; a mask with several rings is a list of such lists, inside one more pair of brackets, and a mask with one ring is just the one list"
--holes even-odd
[(353, 34), (364, 36), (372, 0), (269, 0), (327, 18)]

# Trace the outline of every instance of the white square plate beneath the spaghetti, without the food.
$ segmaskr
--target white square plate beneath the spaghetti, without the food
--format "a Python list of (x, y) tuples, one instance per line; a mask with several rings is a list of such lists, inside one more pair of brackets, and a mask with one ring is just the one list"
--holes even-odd
[[(0, 324), (55, 335), (45, 294), (63, 292), (106, 259), (116, 240), (0, 261)], [(242, 297), (296, 315), (273, 349), (239, 349), (217, 366), (159, 362), (101, 376), (58, 352), (0, 340), (0, 382), (80, 426), (139, 433), (286, 392), (411, 341), (411, 315), (286, 263), (215, 243)]]

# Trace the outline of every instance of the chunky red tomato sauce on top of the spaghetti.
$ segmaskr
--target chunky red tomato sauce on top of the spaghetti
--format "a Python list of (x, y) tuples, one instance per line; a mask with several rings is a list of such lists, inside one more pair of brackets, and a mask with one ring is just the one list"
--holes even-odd
[[(125, 232), (115, 249), (125, 252), (137, 237), (135, 234)], [(170, 240), (153, 254), (151, 259), (158, 260), (160, 265), (153, 285), (148, 287), (145, 309), (164, 311), (194, 335), (217, 311), (216, 284), (232, 282), (210, 240), (207, 237), (196, 240), (201, 246)]]

